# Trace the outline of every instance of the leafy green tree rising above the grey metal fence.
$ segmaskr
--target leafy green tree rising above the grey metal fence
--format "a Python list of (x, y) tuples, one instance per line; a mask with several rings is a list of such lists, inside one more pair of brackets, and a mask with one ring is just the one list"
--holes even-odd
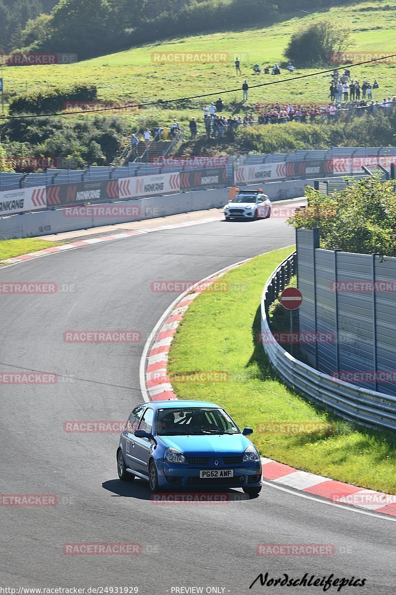
[(393, 180), (379, 174), (323, 195), (307, 187), (308, 207), (287, 221), (295, 228), (321, 230), (321, 248), (396, 256), (396, 199)]

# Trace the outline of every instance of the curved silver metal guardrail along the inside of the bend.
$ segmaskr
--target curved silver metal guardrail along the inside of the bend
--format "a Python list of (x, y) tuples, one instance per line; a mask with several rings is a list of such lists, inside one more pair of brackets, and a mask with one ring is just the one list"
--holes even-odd
[[(296, 272), (296, 252), (275, 269), (261, 296), (261, 333), (271, 336), (268, 308)], [(396, 430), (396, 397), (341, 382), (304, 364), (274, 340), (263, 341), (264, 351), (281, 379), (309, 400), (332, 409), (344, 419), (370, 427)]]

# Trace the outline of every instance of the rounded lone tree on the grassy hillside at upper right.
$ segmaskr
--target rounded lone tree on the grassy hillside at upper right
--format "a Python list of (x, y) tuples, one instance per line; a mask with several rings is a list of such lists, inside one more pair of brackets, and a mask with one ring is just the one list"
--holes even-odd
[(341, 52), (350, 43), (349, 27), (321, 18), (293, 33), (284, 54), (296, 64), (327, 63), (331, 52)]

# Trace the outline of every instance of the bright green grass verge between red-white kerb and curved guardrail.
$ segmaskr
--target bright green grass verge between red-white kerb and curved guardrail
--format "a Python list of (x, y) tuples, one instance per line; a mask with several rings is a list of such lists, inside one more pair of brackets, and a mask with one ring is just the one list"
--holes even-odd
[[(240, 427), (254, 428), (262, 456), (312, 473), (373, 490), (396, 493), (394, 434), (354, 426), (322, 411), (283, 384), (262, 345), (259, 303), (274, 268), (292, 252), (275, 250), (223, 277), (229, 291), (204, 292), (192, 302), (169, 353), (169, 372), (227, 371), (223, 383), (173, 382), (180, 399), (210, 400), (223, 406)], [(260, 424), (325, 422), (334, 434), (270, 434)]]

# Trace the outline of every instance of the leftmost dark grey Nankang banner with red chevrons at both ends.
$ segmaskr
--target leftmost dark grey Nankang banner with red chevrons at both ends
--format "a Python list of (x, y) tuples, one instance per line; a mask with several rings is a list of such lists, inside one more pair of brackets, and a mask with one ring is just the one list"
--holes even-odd
[(109, 202), (118, 198), (118, 180), (97, 180), (47, 186), (47, 206)]

